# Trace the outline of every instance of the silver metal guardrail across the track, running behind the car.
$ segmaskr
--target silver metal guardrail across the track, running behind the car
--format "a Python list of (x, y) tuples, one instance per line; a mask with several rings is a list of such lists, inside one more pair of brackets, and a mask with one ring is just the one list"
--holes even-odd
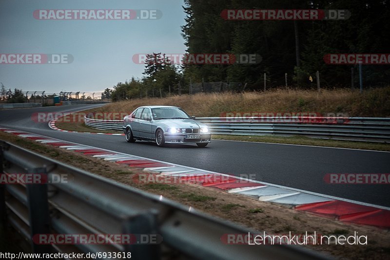
[[(85, 116), (85, 125), (99, 130), (122, 130), (121, 120), (99, 120)], [(198, 117), (213, 134), (229, 135), (301, 135), (320, 139), (365, 142), (390, 142), (390, 118), (348, 117)], [(310, 121), (312, 120), (312, 121)]]

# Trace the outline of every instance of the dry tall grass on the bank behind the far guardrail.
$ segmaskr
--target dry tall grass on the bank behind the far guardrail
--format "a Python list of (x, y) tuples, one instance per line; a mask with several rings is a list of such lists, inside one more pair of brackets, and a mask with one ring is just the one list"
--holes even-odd
[(312, 90), (277, 89), (267, 92), (198, 93), (165, 98), (132, 99), (111, 103), (102, 112), (131, 112), (139, 106), (178, 106), (195, 116), (219, 116), (226, 112), (319, 112), (347, 113), (350, 116), (389, 117), (390, 87), (360, 94), (348, 89)]

